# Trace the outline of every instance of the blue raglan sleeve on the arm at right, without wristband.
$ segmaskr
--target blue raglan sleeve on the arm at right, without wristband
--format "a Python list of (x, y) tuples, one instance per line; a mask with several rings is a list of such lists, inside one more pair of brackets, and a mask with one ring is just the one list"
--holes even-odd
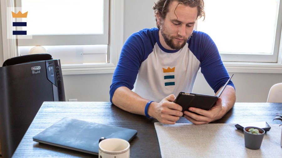
[[(190, 50), (201, 62), (201, 73), (216, 93), (229, 79), (217, 46), (212, 38), (204, 32), (194, 31), (192, 38), (194, 39), (189, 42)], [(235, 89), (231, 80), (227, 85), (233, 86)]]

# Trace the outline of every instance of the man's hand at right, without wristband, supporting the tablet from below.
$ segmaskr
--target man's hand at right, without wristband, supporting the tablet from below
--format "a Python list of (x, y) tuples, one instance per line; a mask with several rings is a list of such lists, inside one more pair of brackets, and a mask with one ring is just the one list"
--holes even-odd
[(200, 114), (197, 115), (189, 111), (184, 111), (184, 117), (196, 125), (206, 124), (221, 119), (226, 113), (222, 107), (221, 98), (218, 98), (216, 105), (214, 105), (211, 110), (206, 111), (195, 107), (190, 107), (189, 110)]

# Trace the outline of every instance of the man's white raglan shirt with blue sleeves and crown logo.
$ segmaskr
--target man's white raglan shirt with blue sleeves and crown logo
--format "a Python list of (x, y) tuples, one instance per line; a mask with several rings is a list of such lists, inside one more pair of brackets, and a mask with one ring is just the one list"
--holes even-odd
[[(194, 30), (180, 50), (165, 49), (158, 28), (133, 33), (123, 45), (113, 74), (110, 101), (120, 86), (157, 102), (180, 91), (192, 92), (200, 67), (214, 92), (229, 79), (218, 49), (206, 33)], [(232, 81), (228, 85), (234, 87)]]

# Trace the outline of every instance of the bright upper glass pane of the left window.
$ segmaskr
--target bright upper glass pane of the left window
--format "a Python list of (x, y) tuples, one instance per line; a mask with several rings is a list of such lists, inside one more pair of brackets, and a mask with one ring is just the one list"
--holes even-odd
[(103, 0), (22, 0), (28, 35), (102, 34)]

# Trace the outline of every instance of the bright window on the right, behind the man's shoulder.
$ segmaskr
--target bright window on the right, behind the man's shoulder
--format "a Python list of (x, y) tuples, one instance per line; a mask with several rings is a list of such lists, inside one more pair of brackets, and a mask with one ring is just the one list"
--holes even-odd
[(279, 62), (280, 0), (205, 1), (205, 12), (197, 30), (212, 37), (223, 61)]

